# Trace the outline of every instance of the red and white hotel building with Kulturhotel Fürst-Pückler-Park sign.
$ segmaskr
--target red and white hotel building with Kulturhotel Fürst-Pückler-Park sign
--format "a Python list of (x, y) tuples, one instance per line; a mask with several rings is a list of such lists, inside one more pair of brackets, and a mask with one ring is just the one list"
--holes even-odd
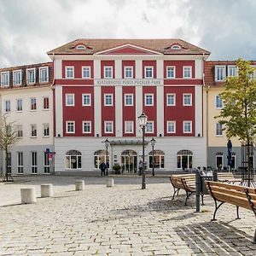
[(78, 39), (48, 52), (54, 62), (55, 173), (99, 172), (106, 160), (137, 172), (148, 115), (145, 160), (155, 172), (207, 166), (203, 134), (207, 50), (180, 39)]

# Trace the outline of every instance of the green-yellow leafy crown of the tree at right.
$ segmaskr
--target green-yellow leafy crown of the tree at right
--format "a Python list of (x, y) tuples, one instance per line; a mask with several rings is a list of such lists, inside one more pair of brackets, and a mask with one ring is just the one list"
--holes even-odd
[(252, 142), (256, 134), (256, 81), (252, 79), (254, 68), (249, 61), (236, 61), (237, 77), (224, 83), (224, 92), (219, 96), (224, 108), (215, 118), (224, 125), (228, 138), (238, 137), (242, 142)]

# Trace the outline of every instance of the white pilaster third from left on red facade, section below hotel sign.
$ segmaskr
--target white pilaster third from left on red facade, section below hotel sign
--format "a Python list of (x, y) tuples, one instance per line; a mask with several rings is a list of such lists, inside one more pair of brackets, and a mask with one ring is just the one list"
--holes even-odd
[(122, 87), (115, 86), (115, 136), (123, 136)]

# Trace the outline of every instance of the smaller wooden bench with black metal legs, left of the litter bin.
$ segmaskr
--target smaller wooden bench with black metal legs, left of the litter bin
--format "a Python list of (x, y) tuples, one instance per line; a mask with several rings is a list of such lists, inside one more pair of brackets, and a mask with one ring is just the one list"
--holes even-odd
[(179, 190), (183, 189), (186, 192), (186, 206), (189, 196), (195, 193), (195, 174), (172, 175), (170, 176), (170, 181), (174, 189), (172, 200), (174, 199), (176, 194), (178, 195)]

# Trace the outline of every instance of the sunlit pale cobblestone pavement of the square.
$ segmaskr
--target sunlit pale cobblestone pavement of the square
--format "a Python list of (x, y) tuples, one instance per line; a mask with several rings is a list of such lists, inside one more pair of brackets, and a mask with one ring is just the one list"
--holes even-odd
[[(224, 204), (211, 222), (214, 203), (195, 213), (195, 197), (184, 207), (184, 193), (172, 201), (168, 177), (27, 177), (0, 185), (0, 255), (256, 255), (253, 212)], [(20, 187), (54, 184), (55, 196), (20, 205)], [(38, 194), (39, 196), (39, 194)], [(15, 202), (15, 204), (14, 204)], [(13, 204), (13, 205), (10, 205)]]

